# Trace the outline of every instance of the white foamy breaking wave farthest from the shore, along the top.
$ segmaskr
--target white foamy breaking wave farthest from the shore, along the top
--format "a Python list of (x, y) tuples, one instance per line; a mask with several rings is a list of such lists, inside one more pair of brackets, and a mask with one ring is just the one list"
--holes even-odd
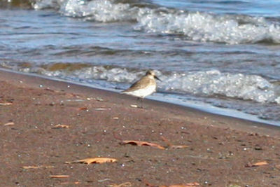
[(136, 21), (134, 29), (158, 34), (183, 34), (193, 41), (218, 43), (280, 43), (280, 27), (262, 17), (188, 13), (170, 8), (117, 4), (113, 0), (41, 0), (34, 8), (56, 8), (59, 13), (97, 22)]

